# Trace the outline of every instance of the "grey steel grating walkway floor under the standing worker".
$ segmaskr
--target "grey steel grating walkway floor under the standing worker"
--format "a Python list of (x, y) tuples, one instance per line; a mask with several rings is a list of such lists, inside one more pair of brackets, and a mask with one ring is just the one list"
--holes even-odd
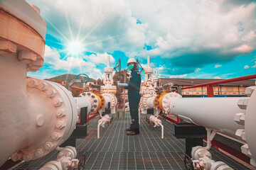
[[(161, 119), (164, 124), (162, 140), (161, 128), (151, 130), (143, 115), (140, 135), (127, 136), (125, 128), (131, 122), (129, 114), (126, 113), (124, 121), (122, 115), (116, 120), (114, 114), (112, 124), (105, 130), (101, 129), (100, 139), (97, 139), (97, 120), (90, 121), (87, 137), (76, 143), (78, 157), (85, 154), (85, 169), (185, 169), (185, 140), (173, 136), (174, 125), (171, 123)], [(215, 161), (223, 161), (233, 169), (248, 169), (215, 148), (210, 152)], [(40, 169), (56, 157), (57, 152), (53, 151), (41, 159), (24, 162), (15, 169)]]

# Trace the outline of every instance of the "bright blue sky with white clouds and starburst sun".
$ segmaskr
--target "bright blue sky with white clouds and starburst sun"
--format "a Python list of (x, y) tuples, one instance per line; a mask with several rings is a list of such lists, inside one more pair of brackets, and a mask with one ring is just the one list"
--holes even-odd
[(130, 57), (157, 77), (229, 79), (256, 74), (256, 1), (27, 0), (46, 21), (43, 67), (28, 76), (102, 79)]

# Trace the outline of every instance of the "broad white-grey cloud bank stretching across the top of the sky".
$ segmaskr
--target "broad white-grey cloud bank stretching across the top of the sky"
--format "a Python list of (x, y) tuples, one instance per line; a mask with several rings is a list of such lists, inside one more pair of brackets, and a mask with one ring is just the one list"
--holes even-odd
[[(100, 54), (119, 50), (128, 57), (160, 56), (172, 67), (194, 72), (256, 49), (252, 1), (27, 1), (41, 9), (48, 34), (60, 42), (79, 33), (85, 50), (96, 54), (95, 62), (89, 60), (93, 63), (104, 63)], [(144, 45), (152, 49), (144, 50)], [(184, 74), (181, 69), (173, 74)]]

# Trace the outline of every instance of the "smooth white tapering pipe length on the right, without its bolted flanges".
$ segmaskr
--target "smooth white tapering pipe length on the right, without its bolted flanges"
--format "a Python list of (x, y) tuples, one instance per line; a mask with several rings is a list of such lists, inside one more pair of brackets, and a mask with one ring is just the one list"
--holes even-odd
[(170, 103), (171, 114), (201, 125), (223, 132), (232, 137), (243, 125), (235, 123), (236, 113), (245, 113), (238, 107), (241, 98), (175, 98)]

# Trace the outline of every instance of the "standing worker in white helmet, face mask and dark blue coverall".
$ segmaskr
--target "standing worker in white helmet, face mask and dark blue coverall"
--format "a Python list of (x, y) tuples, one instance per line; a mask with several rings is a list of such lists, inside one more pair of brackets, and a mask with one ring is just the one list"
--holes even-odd
[(127, 135), (139, 135), (139, 89), (141, 84), (141, 76), (137, 70), (137, 62), (134, 58), (130, 58), (127, 62), (128, 69), (132, 71), (129, 78), (128, 86), (124, 89), (128, 90), (129, 110), (132, 117), (132, 124), (126, 128)]

